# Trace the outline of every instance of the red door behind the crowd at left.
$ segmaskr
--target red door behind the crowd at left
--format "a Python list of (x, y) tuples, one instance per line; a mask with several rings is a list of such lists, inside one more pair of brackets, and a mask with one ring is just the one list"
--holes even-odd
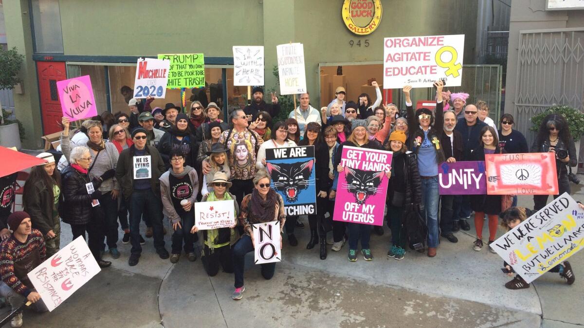
[(65, 62), (37, 61), (39, 72), (40, 110), (43, 115), (43, 135), (61, 131), (63, 112), (57, 92), (57, 81), (67, 79)]

